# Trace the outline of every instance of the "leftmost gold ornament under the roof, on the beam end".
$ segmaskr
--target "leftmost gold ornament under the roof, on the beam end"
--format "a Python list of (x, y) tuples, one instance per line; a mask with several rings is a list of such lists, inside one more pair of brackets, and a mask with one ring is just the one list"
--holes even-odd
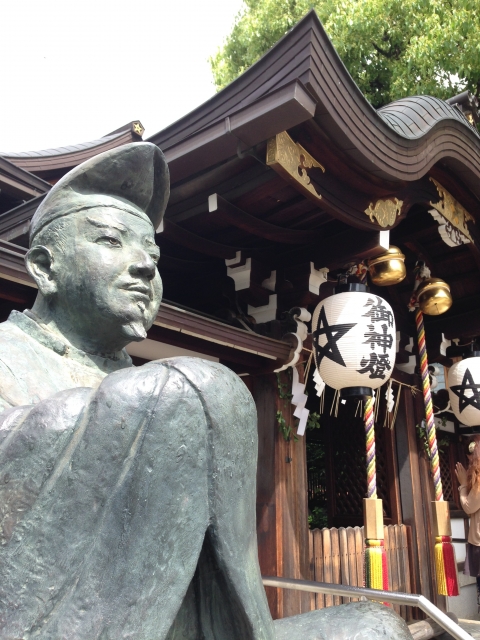
[(267, 165), (272, 167), (282, 178), (302, 191), (304, 195), (315, 200), (321, 200), (322, 196), (312, 184), (308, 169), (317, 168), (325, 173), (323, 167), (308, 153), (298, 142), (294, 142), (286, 131), (277, 133), (267, 143)]

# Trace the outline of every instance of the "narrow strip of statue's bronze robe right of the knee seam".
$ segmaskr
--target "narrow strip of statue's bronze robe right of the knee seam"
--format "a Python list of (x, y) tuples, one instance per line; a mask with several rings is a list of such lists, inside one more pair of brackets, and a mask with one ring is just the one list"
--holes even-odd
[[(208, 425), (208, 536), (213, 557), (199, 564), (199, 574), (202, 584), (205, 573), (205, 592), (212, 595), (201, 599), (202, 630), (206, 637), (233, 637), (224, 629), (228, 629), (227, 618), (236, 617), (238, 637), (271, 640), (275, 631), (260, 573), (256, 534), (255, 403), (241, 378), (221, 364), (194, 358), (171, 358), (168, 362), (195, 388)], [(215, 583), (211, 575), (217, 567), (224, 580)], [(223, 606), (214, 610), (212, 602)]]

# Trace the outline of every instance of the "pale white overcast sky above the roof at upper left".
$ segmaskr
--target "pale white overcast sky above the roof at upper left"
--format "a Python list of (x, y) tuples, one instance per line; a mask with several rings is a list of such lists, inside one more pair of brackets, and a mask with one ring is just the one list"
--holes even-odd
[(215, 93), (208, 57), (242, 0), (3, 0), (1, 151), (144, 138)]

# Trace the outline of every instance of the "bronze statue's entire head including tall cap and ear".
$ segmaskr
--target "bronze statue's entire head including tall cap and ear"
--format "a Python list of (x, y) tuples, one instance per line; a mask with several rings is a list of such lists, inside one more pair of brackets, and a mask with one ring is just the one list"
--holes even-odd
[(155, 229), (168, 195), (165, 158), (149, 143), (112, 149), (65, 175), (30, 227), (37, 311), (94, 352), (145, 338), (162, 296)]

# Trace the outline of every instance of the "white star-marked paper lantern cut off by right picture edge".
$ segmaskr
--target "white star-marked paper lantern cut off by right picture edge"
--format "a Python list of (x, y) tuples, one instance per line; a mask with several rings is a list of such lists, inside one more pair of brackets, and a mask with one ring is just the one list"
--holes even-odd
[(467, 427), (480, 426), (480, 357), (465, 358), (450, 367), (448, 393), (458, 420)]

